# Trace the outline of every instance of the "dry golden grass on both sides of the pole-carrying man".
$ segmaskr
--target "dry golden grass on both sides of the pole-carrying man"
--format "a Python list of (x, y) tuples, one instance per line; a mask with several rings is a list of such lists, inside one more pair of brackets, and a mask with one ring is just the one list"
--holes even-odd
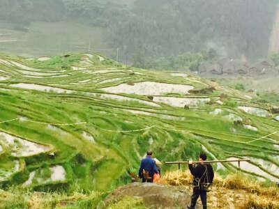
[[(172, 171), (160, 180), (163, 185), (184, 185), (190, 189), (193, 176), (190, 171)], [(266, 187), (241, 173), (221, 178), (216, 175), (208, 194), (209, 208), (278, 209), (279, 188)]]

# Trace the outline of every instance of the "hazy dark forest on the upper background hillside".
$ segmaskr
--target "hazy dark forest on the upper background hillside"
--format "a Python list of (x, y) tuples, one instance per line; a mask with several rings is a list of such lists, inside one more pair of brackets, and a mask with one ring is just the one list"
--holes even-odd
[(0, 20), (75, 21), (107, 29), (121, 59), (144, 63), (162, 56), (215, 49), (249, 59), (266, 56), (276, 0), (0, 0)]

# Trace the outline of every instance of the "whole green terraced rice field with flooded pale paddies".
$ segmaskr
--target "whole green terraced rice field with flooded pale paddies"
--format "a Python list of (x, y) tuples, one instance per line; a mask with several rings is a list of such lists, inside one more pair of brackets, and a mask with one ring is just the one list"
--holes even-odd
[(278, 115), (247, 93), (98, 54), (0, 54), (0, 78), (3, 188), (112, 189), (130, 182), (146, 150), (162, 162), (196, 160), (202, 150), (211, 160), (248, 157), (241, 171), (279, 182)]

